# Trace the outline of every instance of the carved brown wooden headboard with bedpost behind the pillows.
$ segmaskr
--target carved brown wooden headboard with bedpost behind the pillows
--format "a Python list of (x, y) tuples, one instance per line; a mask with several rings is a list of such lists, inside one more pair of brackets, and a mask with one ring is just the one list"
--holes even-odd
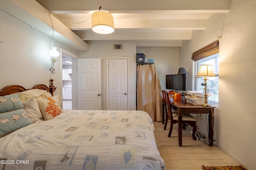
[[(46, 90), (47, 92), (50, 92), (50, 94), (52, 94), (52, 96), (53, 96), (53, 92), (56, 90), (56, 87), (54, 87), (52, 81), (51, 81), (50, 87), (48, 87), (44, 84), (37, 84), (36, 86), (34, 86), (33, 88), (30, 88), (30, 89)], [(2, 90), (0, 90), (0, 96), (5, 96), (8, 94), (17, 93), (17, 92), (24, 92), (24, 91), (30, 90), (30, 89), (26, 89), (20, 85), (9, 85), (9, 86), (2, 88)]]

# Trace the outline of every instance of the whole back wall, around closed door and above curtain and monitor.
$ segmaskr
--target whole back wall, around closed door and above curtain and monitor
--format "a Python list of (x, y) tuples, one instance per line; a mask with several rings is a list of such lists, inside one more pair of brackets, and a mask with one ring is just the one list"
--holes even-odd
[[(130, 56), (130, 109), (136, 109), (136, 53), (144, 53), (154, 59), (162, 89), (165, 75), (178, 72), (178, 47), (137, 47), (135, 41), (87, 41), (88, 52), (80, 53), (82, 58), (100, 58), (102, 64), (102, 109), (106, 109), (106, 56)], [(122, 44), (122, 50), (114, 50), (114, 44)]]

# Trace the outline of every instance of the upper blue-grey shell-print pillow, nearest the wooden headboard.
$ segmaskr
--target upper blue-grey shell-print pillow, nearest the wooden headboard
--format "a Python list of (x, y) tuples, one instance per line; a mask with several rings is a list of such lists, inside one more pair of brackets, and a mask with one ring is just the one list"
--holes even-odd
[(23, 105), (18, 94), (0, 96), (0, 113), (20, 109), (22, 107)]

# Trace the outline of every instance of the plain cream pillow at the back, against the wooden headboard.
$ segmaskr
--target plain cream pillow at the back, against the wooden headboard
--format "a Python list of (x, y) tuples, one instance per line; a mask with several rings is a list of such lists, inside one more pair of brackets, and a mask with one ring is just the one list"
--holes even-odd
[(39, 96), (45, 96), (45, 97), (51, 97), (52, 95), (47, 92), (46, 90), (40, 90), (40, 89), (30, 89), (26, 90), (24, 92), (18, 92), (16, 94), (20, 95), (20, 100), (22, 102), (26, 102), (30, 100), (33, 97), (38, 98)]

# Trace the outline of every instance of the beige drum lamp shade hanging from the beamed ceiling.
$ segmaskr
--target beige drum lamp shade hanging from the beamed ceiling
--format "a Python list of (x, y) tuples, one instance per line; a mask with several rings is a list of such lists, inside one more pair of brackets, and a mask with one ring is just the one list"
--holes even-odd
[(107, 11), (96, 11), (91, 15), (92, 31), (99, 34), (114, 32), (114, 17)]

